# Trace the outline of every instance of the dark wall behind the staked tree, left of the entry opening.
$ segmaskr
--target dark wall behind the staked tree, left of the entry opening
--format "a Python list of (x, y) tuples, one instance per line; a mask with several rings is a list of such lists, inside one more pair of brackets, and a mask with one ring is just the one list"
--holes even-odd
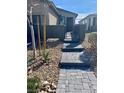
[[(35, 40), (38, 40), (37, 25), (33, 25), (35, 32)], [(66, 27), (63, 25), (47, 25), (46, 26), (46, 38), (59, 38), (64, 40)], [(43, 25), (40, 25), (40, 36), (41, 41), (43, 40)], [(27, 43), (31, 42), (31, 31), (30, 27), (27, 24)]]

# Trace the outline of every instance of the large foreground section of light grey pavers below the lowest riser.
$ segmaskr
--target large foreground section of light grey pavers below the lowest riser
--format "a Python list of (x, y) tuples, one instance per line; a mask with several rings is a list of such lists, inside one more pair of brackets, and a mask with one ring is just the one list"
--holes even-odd
[[(96, 93), (94, 72), (61, 69), (56, 93)], [(93, 79), (90, 79), (93, 78)]]

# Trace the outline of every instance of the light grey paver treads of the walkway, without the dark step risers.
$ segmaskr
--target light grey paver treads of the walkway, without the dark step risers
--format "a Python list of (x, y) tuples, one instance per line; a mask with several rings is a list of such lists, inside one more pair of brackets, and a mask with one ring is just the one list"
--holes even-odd
[[(70, 39), (69, 34), (67, 39)], [(75, 46), (75, 44), (66, 43), (64, 48), (79, 48), (81, 45)], [(72, 45), (72, 47), (71, 47)], [(83, 63), (80, 56), (83, 52), (63, 52), (61, 63)], [(75, 69), (74, 67), (69, 69), (60, 69), (59, 80), (56, 93), (96, 93), (97, 82), (93, 72)]]

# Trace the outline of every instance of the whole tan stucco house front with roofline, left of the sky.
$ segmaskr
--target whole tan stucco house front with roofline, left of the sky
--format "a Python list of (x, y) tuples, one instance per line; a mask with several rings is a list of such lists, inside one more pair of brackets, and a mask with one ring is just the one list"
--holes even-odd
[[(31, 8), (31, 2), (33, 3), (32, 15), (40, 16), (41, 24), (43, 24), (43, 16), (46, 16), (47, 25), (63, 25), (67, 24), (67, 18), (73, 18), (73, 24), (75, 24), (75, 19), (77, 17), (76, 13), (57, 8), (52, 1), (49, 0), (27, 0), (27, 10)], [(29, 14), (27, 14), (29, 15)], [(64, 19), (61, 20), (61, 17)]]

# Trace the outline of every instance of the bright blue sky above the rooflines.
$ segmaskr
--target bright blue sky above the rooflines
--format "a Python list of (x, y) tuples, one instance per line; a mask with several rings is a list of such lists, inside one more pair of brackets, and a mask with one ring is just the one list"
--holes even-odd
[(88, 14), (96, 13), (97, 0), (52, 0), (54, 4), (68, 11), (78, 14), (76, 23)]

